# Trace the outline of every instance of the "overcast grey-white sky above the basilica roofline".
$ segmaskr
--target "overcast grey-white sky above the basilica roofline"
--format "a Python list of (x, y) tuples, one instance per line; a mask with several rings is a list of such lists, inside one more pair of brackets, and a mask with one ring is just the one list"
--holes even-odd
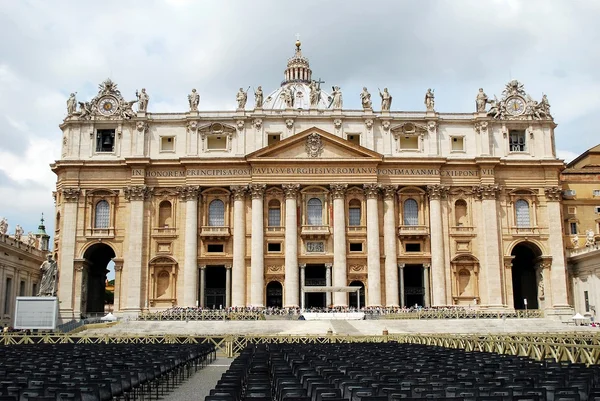
[[(60, 156), (66, 100), (90, 100), (107, 77), (148, 111), (234, 109), (239, 87), (279, 86), (296, 34), (313, 77), (359, 108), (363, 86), (393, 109), (472, 112), (479, 87), (510, 79), (548, 95), (567, 160), (598, 142), (600, 1), (576, 0), (0, 0), (0, 217), (54, 230), (49, 164)], [(378, 103), (378, 102), (376, 102)]]

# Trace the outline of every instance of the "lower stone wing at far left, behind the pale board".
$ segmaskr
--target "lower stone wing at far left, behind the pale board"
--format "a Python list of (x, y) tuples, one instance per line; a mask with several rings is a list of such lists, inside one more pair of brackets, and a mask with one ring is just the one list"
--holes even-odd
[(15, 298), (38, 294), (40, 265), (46, 260), (50, 236), (44, 219), (37, 232), (24, 235), (16, 225), (9, 233), (8, 221), (0, 221), (0, 326), (14, 323)]

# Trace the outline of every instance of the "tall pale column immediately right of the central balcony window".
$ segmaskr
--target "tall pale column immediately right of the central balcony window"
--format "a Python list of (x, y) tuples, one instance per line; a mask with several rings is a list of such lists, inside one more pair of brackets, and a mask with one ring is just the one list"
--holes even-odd
[[(348, 285), (346, 268), (346, 212), (344, 194), (347, 184), (332, 184), (333, 198), (333, 285), (345, 287)], [(329, 305), (329, 304), (328, 304)], [(348, 306), (348, 296), (345, 292), (333, 294), (333, 306)]]

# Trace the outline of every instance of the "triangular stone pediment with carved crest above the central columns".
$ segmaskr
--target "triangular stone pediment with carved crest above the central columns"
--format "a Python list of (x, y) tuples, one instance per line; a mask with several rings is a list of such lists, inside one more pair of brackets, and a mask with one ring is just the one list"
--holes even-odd
[(259, 149), (246, 156), (246, 160), (363, 160), (381, 161), (383, 156), (370, 149), (356, 145), (339, 136), (313, 127), (276, 144)]

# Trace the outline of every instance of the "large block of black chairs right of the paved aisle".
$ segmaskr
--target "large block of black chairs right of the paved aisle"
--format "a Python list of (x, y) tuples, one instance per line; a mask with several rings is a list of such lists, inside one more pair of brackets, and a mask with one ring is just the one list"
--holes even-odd
[(249, 346), (206, 401), (594, 401), (600, 368), (415, 344)]

